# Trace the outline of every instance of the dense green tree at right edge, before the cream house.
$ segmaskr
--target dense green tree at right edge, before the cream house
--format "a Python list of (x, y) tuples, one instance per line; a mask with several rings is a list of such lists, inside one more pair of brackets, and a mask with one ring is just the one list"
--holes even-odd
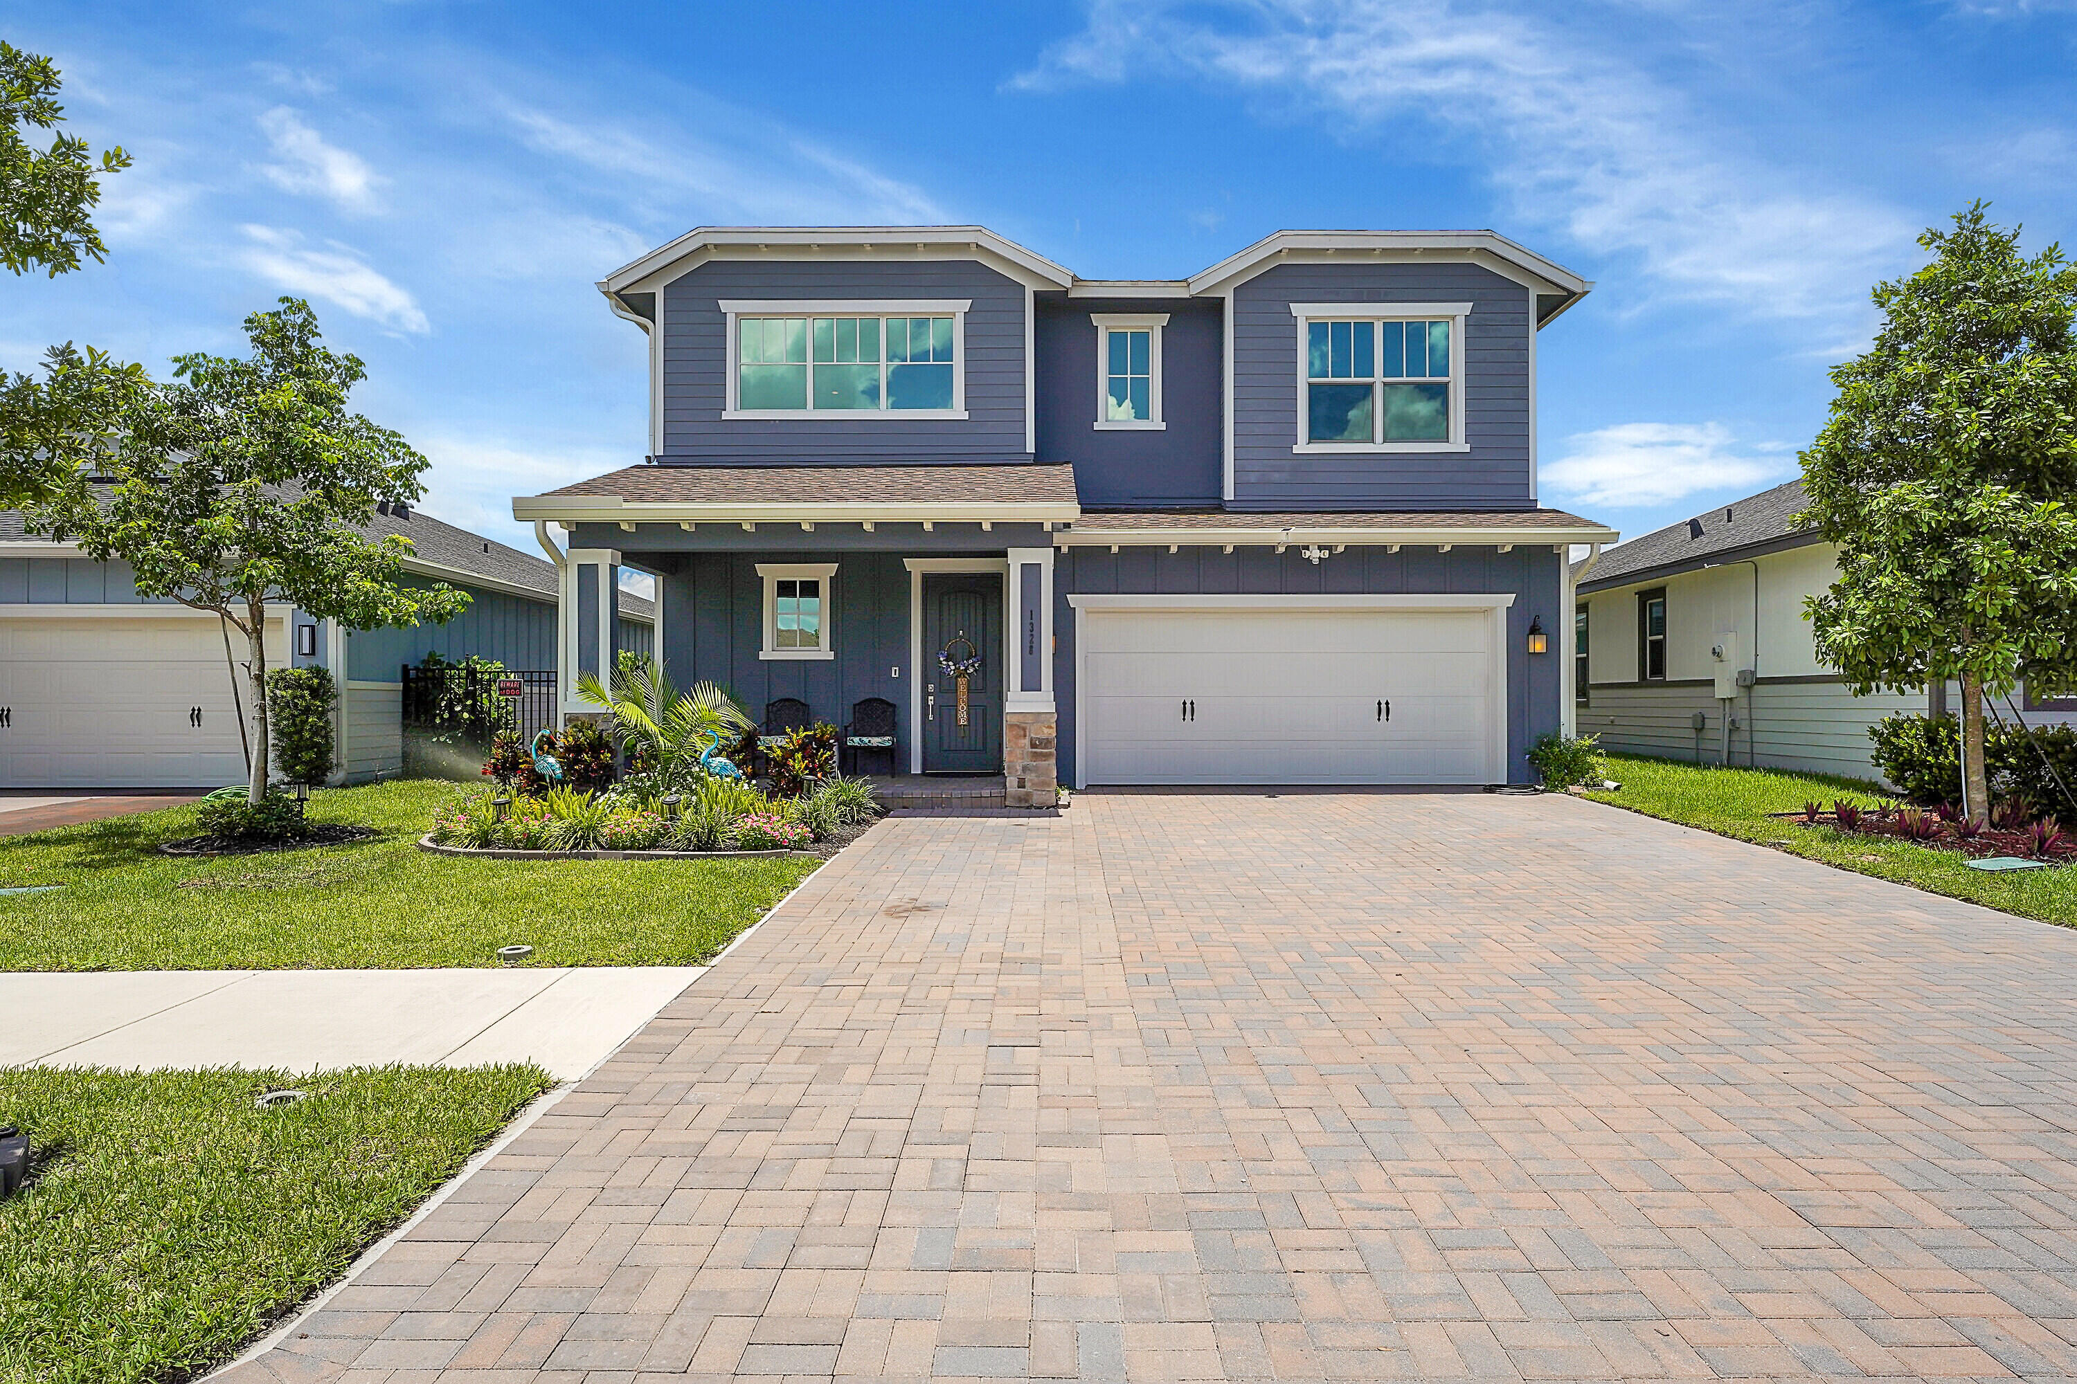
[(1803, 519), (1838, 546), (1817, 656), (1855, 693), (1961, 683), (1969, 811), (1990, 805), (1984, 697), (2077, 687), (2077, 268), (1984, 210), (1876, 286), (1882, 330), (1803, 452)]

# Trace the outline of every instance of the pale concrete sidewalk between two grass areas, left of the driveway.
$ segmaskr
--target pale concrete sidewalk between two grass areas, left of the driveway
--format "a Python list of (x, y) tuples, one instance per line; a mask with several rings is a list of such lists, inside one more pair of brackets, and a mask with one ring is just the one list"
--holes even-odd
[(0, 1067), (592, 1071), (706, 967), (0, 973)]

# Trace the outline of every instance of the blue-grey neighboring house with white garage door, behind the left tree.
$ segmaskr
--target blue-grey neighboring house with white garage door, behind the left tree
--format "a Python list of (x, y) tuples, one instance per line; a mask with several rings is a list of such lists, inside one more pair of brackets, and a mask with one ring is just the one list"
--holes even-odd
[[(339, 780), (403, 768), (401, 672), (428, 652), (555, 668), (548, 562), (405, 506), (384, 506), (366, 533), (409, 537), (409, 581), (444, 581), (471, 602), (447, 625), (363, 633), (301, 610), (270, 612), (268, 664), (316, 664), (339, 681)], [(629, 598), (623, 614), (621, 643), (648, 647), (648, 602)], [(235, 631), (231, 652), (245, 658)], [(42, 542), (23, 531), (19, 513), (0, 513), (0, 788), (193, 788), (243, 778), (220, 622), (174, 600), (143, 600), (127, 564)]]

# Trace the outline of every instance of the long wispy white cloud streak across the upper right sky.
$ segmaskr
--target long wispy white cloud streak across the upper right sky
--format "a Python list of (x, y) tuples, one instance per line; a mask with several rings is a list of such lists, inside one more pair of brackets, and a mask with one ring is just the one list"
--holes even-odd
[(1468, 139), (1514, 216), (1635, 255), (1664, 295), (1857, 320), (1917, 226), (1741, 158), (1722, 120), (1626, 64), (1608, 25), (1587, 31), (1452, 0), (1095, 0), (1016, 85), (1155, 66), (1294, 100), (1336, 133)]

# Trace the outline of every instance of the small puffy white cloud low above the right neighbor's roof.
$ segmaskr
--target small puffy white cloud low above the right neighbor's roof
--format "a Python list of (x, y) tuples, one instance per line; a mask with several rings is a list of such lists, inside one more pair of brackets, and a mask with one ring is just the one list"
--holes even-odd
[(1566, 438), (1564, 456), (1539, 467), (1539, 481), (1547, 496), (1568, 504), (1651, 508), (1782, 481), (1795, 469), (1782, 452), (1780, 446), (1741, 452), (1722, 423), (1616, 423)]

